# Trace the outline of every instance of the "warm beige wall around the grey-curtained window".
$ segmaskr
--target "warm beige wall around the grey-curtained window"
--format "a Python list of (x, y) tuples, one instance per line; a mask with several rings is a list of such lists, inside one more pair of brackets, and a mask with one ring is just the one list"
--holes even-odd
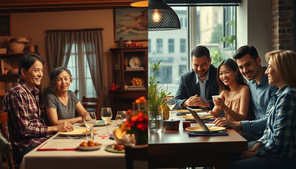
[[(46, 61), (44, 64), (44, 76), (41, 80), (42, 91), (49, 84), (49, 72), (45, 51), (45, 37), (48, 29), (82, 29), (104, 28), (104, 78), (107, 89), (111, 85), (111, 60), (109, 48), (114, 46), (113, 35), (113, 10), (86, 10), (67, 12), (38, 12), (38, 13), (12, 13), (12, 36), (0, 36), (0, 44), (4, 38), (31, 37), (33, 45), (38, 45), (38, 53)], [(5, 45), (5, 44), (4, 44)], [(28, 44), (27, 44), (28, 46)], [(3, 46), (2, 44), (2, 47)], [(106, 91), (107, 106), (109, 103)]]

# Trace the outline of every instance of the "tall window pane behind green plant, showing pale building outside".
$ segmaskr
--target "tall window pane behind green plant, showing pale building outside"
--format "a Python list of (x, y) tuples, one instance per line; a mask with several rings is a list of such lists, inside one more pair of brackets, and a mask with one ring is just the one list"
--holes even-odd
[[(163, 43), (163, 51), (158, 52), (157, 48), (151, 48), (149, 53), (148, 62), (158, 63), (160, 60), (159, 74), (156, 75), (156, 80), (160, 81), (163, 88), (168, 85), (168, 90), (173, 94), (176, 93), (180, 81), (180, 75), (188, 70), (187, 59), (189, 55), (186, 53), (187, 48), (187, 28), (184, 26), (187, 23), (187, 7), (172, 7), (178, 15), (181, 22), (181, 29), (167, 30), (167, 31), (148, 31), (149, 39), (151, 39), (152, 46), (160, 46)], [(162, 39), (159, 39), (159, 38)], [(183, 39), (182, 45), (184, 46), (183, 52), (180, 50), (180, 39)], [(156, 42), (156, 45), (153, 44)], [(180, 66), (181, 65), (181, 66)], [(151, 65), (149, 64), (149, 69)], [(149, 70), (149, 76), (152, 76), (152, 70)]]

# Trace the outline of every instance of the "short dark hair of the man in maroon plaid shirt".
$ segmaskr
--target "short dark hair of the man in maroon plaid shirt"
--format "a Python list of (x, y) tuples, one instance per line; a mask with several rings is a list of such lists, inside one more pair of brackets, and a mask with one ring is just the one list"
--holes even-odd
[(35, 62), (36, 60), (39, 60), (42, 65), (44, 64), (44, 60), (42, 59), (42, 57), (40, 57), (38, 54), (36, 53), (25, 53), (20, 57), (20, 60), (18, 62), (18, 74), (22, 75), (22, 73), (20, 72), (21, 68), (24, 68), (25, 70), (28, 70)]

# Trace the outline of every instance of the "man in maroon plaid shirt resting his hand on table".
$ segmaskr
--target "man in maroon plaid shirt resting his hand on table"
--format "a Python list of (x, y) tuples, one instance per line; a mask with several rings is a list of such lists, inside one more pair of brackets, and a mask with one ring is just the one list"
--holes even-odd
[(8, 111), (12, 122), (12, 136), (18, 148), (16, 162), (32, 149), (53, 136), (56, 131), (72, 131), (70, 123), (47, 127), (40, 118), (38, 106), (39, 90), (43, 76), (44, 60), (34, 53), (24, 54), (18, 62), (20, 78), (4, 96), (4, 111)]

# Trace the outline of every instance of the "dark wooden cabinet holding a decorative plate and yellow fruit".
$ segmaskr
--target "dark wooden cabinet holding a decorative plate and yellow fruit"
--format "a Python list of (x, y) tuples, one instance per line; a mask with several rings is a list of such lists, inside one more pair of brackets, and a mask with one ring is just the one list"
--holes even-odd
[[(115, 48), (111, 51), (112, 62), (112, 83), (119, 85), (120, 88), (115, 91), (110, 91), (111, 108), (113, 117), (115, 118), (117, 111), (128, 110), (132, 107), (132, 102), (135, 99), (145, 96), (148, 97), (148, 48)], [(135, 58), (136, 61), (130, 60)], [(139, 60), (141, 65), (139, 65)], [(133, 68), (130, 64), (138, 64)], [(137, 62), (137, 63), (134, 63)], [(141, 68), (139, 68), (141, 67)], [(138, 68), (138, 69), (137, 69)], [(142, 85), (140, 89), (130, 90), (133, 78), (141, 78)], [(129, 86), (128, 90), (125, 90)]]

